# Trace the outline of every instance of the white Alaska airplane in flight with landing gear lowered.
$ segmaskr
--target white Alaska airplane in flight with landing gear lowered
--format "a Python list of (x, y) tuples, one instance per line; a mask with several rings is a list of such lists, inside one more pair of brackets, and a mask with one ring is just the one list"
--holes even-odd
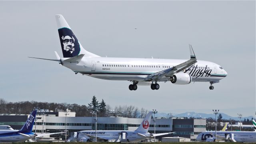
[(105, 80), (128, 80), (132, 82), (130, 90), (137, 90), (137, 85), (151, 85), (152, 90), (158, 90), (158, 82), (167, 81), (173, 84), (210, 82), (209, 88), (213, 90), (212, 84), (227, 76), (218, 64), (197, 60), (191, 45), (190, 60), (100, 57), (82, 47), (62, 15), (56, 15), (56, 21), (64, 58), (55, 52), (57, 59), (38, 59), (57, 61), (75, 74)]

